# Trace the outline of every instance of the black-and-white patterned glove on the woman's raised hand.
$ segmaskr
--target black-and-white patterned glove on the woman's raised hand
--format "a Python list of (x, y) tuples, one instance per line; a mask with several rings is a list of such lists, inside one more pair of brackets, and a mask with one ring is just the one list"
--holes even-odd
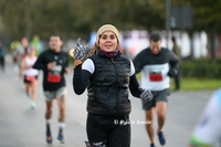
[(73, 55), (74, 55), (75, 60), (83, 60), (85, 54), (86, 54), (86, 51), (87, 51), (87, 45), (88, 44), (83, 46), (83, 45), (80, 44), (80, 41), (81, 41), (81, 39), (78, 38), (77, 41), (76, 41), (76, 45), (75, 45), (74, 52), (73, 52)]

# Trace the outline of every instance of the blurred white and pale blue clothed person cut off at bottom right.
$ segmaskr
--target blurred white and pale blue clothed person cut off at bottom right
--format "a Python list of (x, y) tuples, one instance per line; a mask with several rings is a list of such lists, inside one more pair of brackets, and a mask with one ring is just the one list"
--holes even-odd
[(221, 88), (213, 93), (194, 126), (190, 147), (213, 147), (219, 141), (221, 141)]

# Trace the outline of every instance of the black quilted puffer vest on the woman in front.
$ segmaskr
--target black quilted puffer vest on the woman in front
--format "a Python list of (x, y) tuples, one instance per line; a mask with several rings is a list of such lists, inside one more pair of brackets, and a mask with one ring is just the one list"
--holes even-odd
[(93, 73), (87, 92), (87, 112), (96, 115), (128, 116), (131, 111), (128, 99), (130, 61), (120, 52), (106, 57), (101, 52), (90, 55)]

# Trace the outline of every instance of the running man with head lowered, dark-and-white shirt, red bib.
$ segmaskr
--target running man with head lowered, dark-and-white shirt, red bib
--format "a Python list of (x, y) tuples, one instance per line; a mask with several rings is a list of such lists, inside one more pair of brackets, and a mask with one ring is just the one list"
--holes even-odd
[[(160, 145), (166, 145), (162, 127), (166, 120), (166, 109), (169, 90), (168, 75), (175, 76), (179, 66), (178, 56), (168, 49), (161, 48), (159, 34), (150, 35), (150, 46), (143, 50), (134, 60), (136, 73), (143, 71), (141, 87), (150, 90), (154, 98), (150, 102), (143, 101), (143, 108), (146, 112), (146, 129), (150, 138), (150, 147), (156, 147), (154, 138), (154, 114), (155, 107), (158, 115), (158, 138)], [(171, 67), (169, 67), (171, 66)]]

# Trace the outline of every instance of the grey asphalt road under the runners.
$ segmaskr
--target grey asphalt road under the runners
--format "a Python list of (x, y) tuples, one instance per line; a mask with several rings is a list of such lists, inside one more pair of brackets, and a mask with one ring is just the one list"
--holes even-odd
[[(4, 72), (0, 71), (0, 147), (84, 147), (86, 137), (86, 93), (78, 96), (72, 87), (73, 70), (65, 75), (67, 84), (65, 145), (55, 141), (57, 128), (57, 105), (54, 102), (52, 118), (53, 144), (45, 143), (45, 102), (42, 92), (42, 72), (39, 76), (36, 108), (30, 108), (24, 93), (23, 80), (13, 70), (11, 57), (7, 56)], [(191, 83), (190, 83), (191, 84)], [(212, 91), (172, 92), (169, 97), (167, 120), (164, 127), (166, 147), (187, 147), (193, 125), (200, 117)], [(145, 113), (141, 102), (130, 95), (133, 111), (131, 147), (149, 147), (149, 139), (141, 124)], [(155, 117), (155, 127), (157, 120)], [(157, 147), (159, 147), (156, 136)]]

